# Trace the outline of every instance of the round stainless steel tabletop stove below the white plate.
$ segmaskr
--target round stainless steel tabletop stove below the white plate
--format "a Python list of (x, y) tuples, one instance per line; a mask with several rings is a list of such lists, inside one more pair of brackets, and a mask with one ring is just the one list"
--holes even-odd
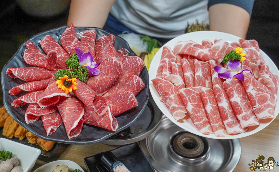
[(238, 139), (210, 139), (189, 134), (165, 116), (159, 127), (140, 141), (140, 147), (159, 172), (205, 169), (207, 172), (231, 172), (237, 166), (241, 155)]

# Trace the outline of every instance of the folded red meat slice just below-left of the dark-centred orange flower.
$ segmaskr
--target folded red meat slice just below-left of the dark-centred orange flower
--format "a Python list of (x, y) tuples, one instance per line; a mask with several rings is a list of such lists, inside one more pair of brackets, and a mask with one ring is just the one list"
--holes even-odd
[(71, 95), (66, 94), (65, 91), (60, 88), (57, 88), (57, 84), (54, 82), (47, 86), (37, 103), (41, 108), (54, 105), (59, 101), (60, 96), (70, 97)]

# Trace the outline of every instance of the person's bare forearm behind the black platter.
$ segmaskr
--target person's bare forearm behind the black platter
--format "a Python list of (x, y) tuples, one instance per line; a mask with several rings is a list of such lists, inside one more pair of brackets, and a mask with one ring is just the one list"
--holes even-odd
[(114, 0), (72, 0), (67, 25), (103, 28)]

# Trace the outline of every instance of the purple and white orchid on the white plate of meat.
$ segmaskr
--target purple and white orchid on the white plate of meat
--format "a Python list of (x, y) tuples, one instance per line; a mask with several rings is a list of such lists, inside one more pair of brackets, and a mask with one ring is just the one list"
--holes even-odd
[[(248, 69), (241, 69), (240, 60), (229, 60), (228, 61), (228, 69), (215, 66), (214, 70), (218, 73), (218, 77), (229, 79), (229, 78), (237, 78), (240, 81), (244, 81), (243, 71), (249, 71)], [(249, 71), (251, 74), (252, 72)]]

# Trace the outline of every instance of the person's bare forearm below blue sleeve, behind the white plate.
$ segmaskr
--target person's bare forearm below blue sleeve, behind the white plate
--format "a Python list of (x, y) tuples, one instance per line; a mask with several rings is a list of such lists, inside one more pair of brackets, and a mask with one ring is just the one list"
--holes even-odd
[(208, 11), (210, 30), (226, 32), (245, 39), (250, 23), (249, 12), (227, 3), (214, 4)]

